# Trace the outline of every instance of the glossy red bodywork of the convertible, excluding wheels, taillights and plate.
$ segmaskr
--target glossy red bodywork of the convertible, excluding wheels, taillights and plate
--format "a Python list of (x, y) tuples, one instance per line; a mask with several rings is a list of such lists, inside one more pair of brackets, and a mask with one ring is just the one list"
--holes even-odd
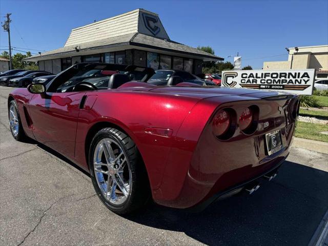
[[(32, 95), (27, 89), (17, 89), (11, 94), (27, 134), (87, 171), (88, 132), (104, 122), (125, 131), (145, 162), (153, 199), (174, 208), (192, 207), (270, 170), (288, 154), (298, 99), (262, 99), (276, 95), (138, 82), (112, 90)], [(87, 97), (80, 108), (83, 96)], [(278, 107), (285, 105), (279, 112)], [(256, 127), (244, 133), (238, 120), (245, 108), (254, 106), (259, 109)], [(222, 109), (235, 114), (233, 134), (224, 140), (213, 134), (215, 114)], [(281, 131), (284, 148), (268, 156), (264, 134), (275, 130)]]

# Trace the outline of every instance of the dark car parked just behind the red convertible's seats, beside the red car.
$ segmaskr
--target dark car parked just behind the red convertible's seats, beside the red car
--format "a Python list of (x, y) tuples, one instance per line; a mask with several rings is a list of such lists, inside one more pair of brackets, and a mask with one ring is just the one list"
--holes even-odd
[[(172, 78), (174, 79), (172, 79)], [(176, 78), (180, 79), (176, 79)], [(171, 79), (170, 79), (171, 78)], [(176, 82), (175, 82), (176, 81)], [(175, 86), (181, 82), (193, 83), (199, 86), (206, 86), (199, 77), (181, 70), (156, 70), (147, 83), (155, 86)]]

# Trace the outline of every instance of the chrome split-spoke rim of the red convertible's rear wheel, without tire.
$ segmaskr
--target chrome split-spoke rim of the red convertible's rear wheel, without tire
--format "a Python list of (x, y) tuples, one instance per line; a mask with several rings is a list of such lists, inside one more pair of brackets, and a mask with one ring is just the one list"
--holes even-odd
[(104, 138), (98, 142), (93, 168), (104, 197), (112, 204), (124, 203), (131, 193), (132, 174), (129, 160), (115, 140)]

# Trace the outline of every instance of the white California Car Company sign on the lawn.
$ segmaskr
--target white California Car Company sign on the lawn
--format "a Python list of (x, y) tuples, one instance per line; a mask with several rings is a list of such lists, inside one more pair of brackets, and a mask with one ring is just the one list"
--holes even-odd
[(312, 95), (315, 69), (222, 71), (222, 87)]

